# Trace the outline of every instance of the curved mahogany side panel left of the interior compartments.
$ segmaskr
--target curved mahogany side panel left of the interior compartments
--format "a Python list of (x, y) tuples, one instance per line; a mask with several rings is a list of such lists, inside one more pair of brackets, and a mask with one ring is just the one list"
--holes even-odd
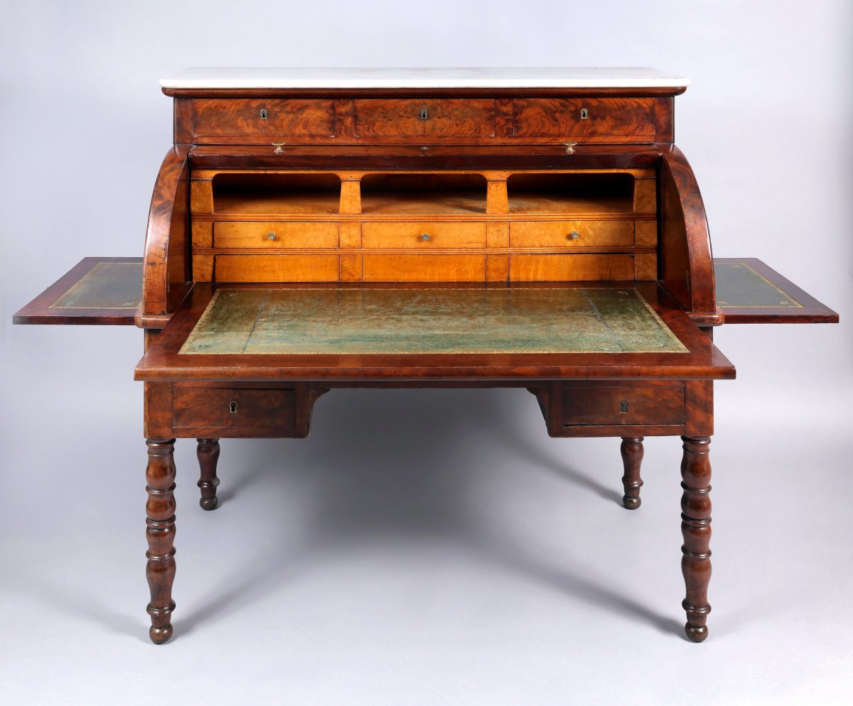
[(190, 285), (189, 146), (171, 148), (160, 165), (148, 210), (142, 266), (142, 312), (175, 310)]

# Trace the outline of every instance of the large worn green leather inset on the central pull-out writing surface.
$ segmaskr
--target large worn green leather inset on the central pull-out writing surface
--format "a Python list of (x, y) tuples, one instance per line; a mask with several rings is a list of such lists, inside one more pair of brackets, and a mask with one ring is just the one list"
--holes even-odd
[(683, 353), (635, 289), (219, 289), (183, 354)]

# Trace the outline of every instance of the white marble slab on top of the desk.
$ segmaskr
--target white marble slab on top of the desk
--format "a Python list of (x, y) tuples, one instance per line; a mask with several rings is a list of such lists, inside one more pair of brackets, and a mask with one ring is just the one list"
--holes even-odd
[(166, 89), (684, 88), (689, 78), (641, 67), (190, 68)]

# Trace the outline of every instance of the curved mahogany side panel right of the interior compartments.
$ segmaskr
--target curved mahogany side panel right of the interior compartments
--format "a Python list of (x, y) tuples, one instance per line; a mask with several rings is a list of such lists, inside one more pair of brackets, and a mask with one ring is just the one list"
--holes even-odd
[(715, 317), (714, 258), (699, 184), (684, 153), (660, 145), (660, 278), (688, 313)]

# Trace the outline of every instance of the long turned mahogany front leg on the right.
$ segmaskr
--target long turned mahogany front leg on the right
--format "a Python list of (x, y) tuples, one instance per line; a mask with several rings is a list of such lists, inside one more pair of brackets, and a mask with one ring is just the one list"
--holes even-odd
[(711, 612), (711, 437), (682, 437), (682, 441), (682, 574), (687, 587), (682, 606), (688, 614), (684, 632), (693, 642), (701, 642), (708, 637), (705, 621)]

